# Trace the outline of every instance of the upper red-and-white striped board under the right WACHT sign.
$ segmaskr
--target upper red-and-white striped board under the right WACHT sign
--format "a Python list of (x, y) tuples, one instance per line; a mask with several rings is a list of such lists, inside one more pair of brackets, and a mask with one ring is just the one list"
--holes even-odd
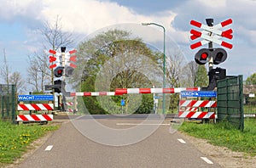
[(217, 102), (213, 100), (180, 100), (180, 107), (211, 107), (216, 108)]

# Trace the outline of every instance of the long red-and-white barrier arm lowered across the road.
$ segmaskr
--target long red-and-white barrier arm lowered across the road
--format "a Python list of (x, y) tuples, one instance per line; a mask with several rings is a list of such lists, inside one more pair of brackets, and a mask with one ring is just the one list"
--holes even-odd
[(200, 91), (200, 87), (177, 88), (117, 88), (115, 92), (71, 92), (71, 96), (117, 96), (123, 94), (148, 94), (148, 93), (179, 93), (182, 91)]

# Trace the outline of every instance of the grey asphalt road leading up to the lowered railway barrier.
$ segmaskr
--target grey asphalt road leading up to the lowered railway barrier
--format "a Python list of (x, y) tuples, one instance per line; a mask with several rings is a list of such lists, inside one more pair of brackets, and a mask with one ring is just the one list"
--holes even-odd
[[(170, 133), (169, 119), (160, 125), (154, 120), (143, 123), (143, 119), (94, 120), (113, 131), (129, 130), (125, 132), (129, 137), (125, 137), (126, 134), (112, 135), (104, 129), (104, 132), (95, 129), (90, 120), (92, 119), (83, 117), (66, 120), (41, 148), (17, 167), (220, 167), (210, 157), (201, 154), (182, 134)], [(143, 137), (143, 132), (134, 131), (136, 126), (141, 127), (140, 132), (154, 130), (155, 126), (157, 128), (153, 133), (147, 132), (148, 137)], [(90, 137), (83, 129), (94, 130), (96, 137)], [(116, 135), (119, 137), (115, 137)], [(137, 143), (132, 142), (137, 137), (140, 138)], [(107, 144), (108, 142), (111, 145)], [(121, 145), (122, 143), (124, 145)]]

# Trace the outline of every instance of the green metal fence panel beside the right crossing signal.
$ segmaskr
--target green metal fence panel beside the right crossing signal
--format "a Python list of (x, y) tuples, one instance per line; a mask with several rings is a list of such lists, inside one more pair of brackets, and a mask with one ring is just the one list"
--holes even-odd
[(218, 121), (244, 128), (242, 76), (231, 76), (217, 82)]

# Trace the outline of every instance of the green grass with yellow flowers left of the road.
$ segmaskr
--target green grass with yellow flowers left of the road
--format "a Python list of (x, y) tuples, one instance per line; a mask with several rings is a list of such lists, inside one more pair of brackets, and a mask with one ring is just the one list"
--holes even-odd
[(1, 164), (13, 163), (26, 152), (29, 144), (58, 127), (38, 124), (14, 125), (0, 120), (0, 167)]

